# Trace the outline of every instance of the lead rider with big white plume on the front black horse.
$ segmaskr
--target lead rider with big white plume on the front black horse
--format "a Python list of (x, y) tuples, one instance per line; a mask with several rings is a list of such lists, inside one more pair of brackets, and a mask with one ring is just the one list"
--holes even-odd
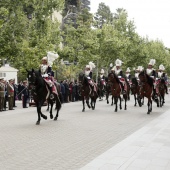
[(41, 75), (44, 78), (45, 82), (49, 85), (50, 89), (50, 98), (54, 98), (54, 94), (58, 95), (56, 87), (54, 85), (54, 72), (52, 71), (52, 61), (51, 58), (58, 58), (58, 55), (54, 56), (56, 54), (48, 52), (47, 56), (42, 58), (42, 64), (40, 65), (40, 71)]

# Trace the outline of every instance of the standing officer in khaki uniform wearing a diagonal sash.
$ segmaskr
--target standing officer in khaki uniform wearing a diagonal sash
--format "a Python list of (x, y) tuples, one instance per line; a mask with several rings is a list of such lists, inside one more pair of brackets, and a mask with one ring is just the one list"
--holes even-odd
[(13, 100), (14, 100), (14, 87), (13, 87), (13, 79), (10, 79), (7, 84), (7, 94), (8, 94), (8, 107), (9, 110), (13, 109)]

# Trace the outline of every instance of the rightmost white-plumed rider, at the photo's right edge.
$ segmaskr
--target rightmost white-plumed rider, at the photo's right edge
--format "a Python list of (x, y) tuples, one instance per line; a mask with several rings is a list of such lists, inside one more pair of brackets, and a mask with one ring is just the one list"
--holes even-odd
[(164, 83), (164, 86), (165, 86), (165, 89), (166, 89), (166, 94), (168, 94), (168, 87), (167, 87), (167, 76), (165, 74), (165, 67), (164, 65), (159, 65), (159, 69), (157, 71), (157, 74), (156, 74), (156, 83), (159, 84), (161, 79), (164, 79), (165, 83)]

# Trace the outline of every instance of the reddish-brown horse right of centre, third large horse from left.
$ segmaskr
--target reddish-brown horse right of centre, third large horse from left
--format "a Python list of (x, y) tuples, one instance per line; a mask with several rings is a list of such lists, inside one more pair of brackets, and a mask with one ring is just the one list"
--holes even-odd
[[(108, 75), (108, 83), (111, 85), (111, 94), (114, 98), (114, 103), (116, 105), (115, 107), (115, 112), (117, 112), (117, 103), (118, 103), (118, 99), (120, 101), (120, 109), (122, 109), (122, 104), (121, 104), (121, 85), (120, 85), (120, 80), (117, 77), (117, 75), (113, 72), (109, 73)], [(125, 101), (125, 110), (127, 109), (127, 94), (123, 94), (123, 98)]]

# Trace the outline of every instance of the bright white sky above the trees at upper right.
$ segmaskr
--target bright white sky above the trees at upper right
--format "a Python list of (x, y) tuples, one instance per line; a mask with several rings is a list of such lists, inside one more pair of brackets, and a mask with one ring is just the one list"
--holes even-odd
[(128, 20), (133, 20), (136, 32), (149, 40), (162, 41), (170, 48), (170, 0), (90, 0), (91, 12), (97, 12), (99, 3), (109, 6), (112, 13), (123, 8)]

